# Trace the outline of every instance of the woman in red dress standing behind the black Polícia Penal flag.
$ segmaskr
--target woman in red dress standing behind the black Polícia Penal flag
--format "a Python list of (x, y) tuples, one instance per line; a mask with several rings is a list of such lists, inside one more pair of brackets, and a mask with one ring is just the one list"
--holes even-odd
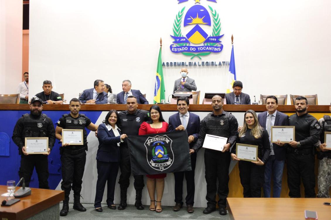
[[(168, 123), (163, 119), (162, 112), (159, 106), (152, 106), (149, 109), (150, 119), (147, 122), (143, 122), (139, 128), (139, 135), (145, 134), (158, 134), (168, 130)], [(146, 175), (147, 176), (147, 190), (149, 197), (151, 198), (151, 205), (149, 210), (162, 212), (161, 200), (163, 196), (163, 190), (165, 188), (166, 173)], [(156, 189), (156, 207), (155, 207), (155, 189)]]

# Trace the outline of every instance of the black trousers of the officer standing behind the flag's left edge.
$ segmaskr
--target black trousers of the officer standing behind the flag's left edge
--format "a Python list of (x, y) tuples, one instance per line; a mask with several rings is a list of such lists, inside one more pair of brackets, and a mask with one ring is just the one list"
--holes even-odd
[[(128, 149), (126, 148), (127, 152), (122, 152), (124, 148), (121, 149), (121, 160), (119, 162), (119, 168), (121, 169), (121, 174), (119, 175), (119, 186), (121, 190), (126, 190), (130, 185), (130, 175), (131, 175), (131, 164), (130, 164), (130, 156), (128, 154)], [(144, 184), (144, 176), (143, 175), (134, 175), (134, 189), (136, 191), (143, 190)]]

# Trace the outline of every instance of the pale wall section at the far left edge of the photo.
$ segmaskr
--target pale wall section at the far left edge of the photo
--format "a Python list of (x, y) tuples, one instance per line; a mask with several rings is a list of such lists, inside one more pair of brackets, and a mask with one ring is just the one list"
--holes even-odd
[(16, 94), (22, 81), (22, 1), (0, 0), (0, 94)]

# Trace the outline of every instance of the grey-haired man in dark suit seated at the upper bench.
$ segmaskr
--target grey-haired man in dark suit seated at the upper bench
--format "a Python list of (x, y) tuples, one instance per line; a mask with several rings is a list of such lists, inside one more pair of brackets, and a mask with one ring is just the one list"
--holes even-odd
[(126, 104), (126, 99), (129, 96), (137, 97), (138, 104), (148, 104), (147, 99), (141, 94), (140, 90), (131, 89), (131, 81), (126, 79), (122, 82), (123, 92), (117, 94), (117, 104)]

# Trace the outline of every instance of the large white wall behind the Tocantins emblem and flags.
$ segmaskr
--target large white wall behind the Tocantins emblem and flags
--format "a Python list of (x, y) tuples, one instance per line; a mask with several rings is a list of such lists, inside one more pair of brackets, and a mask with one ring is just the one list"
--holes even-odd
[[(216, 4), (202, 0), (203, 6), (211, 5), (219, 13), (224, 34), (223, 51), (202, 60), (169, 51), (175, 15), (184, 6), (186, 13), (193, 4), (175, 0), (30, 2), (30, 95), (41, 91), (45, 79), (67, 100), (92, 88), (95, 79), (109, 83), (115, 93), (121, 91), (123, 79), (130, 79), (132, 88), (147, 93), (151, 103), (160, 37), (165, 62), (229, 61), (233, 34), (237, 79), (252, 100), (260, 94), (317, 93), (319, 104), (330, 103), (330, 1)], [(186, 27), (182, 30), (188, 32)], [(179, 69), (163, 69), (166, 96), (179, 78)], [(227, 74), (228, 66), (189, 68), (202, 96), (225, 92)]]

